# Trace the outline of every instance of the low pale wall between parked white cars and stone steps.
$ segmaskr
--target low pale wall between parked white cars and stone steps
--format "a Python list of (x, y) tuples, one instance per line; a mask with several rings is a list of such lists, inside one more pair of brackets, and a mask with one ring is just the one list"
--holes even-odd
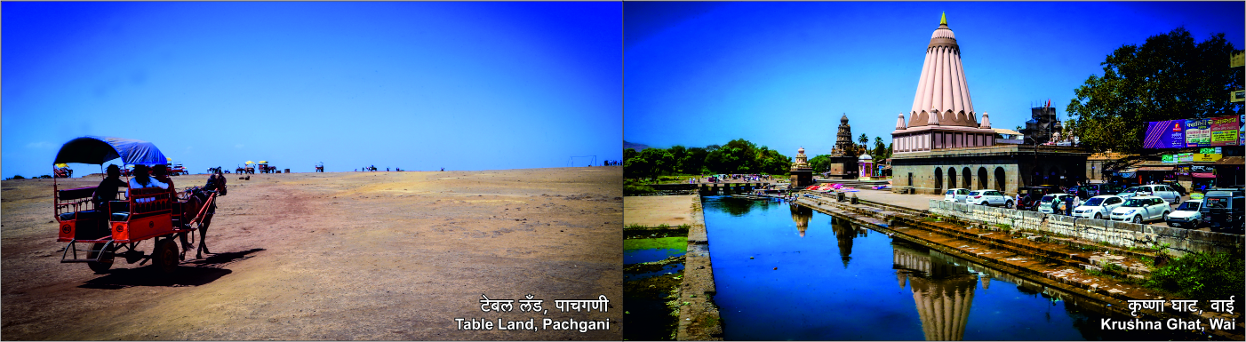
[(1153, 247), (1169, 244), (1176, 256), (1194, 251), (1234, 252), (1246, 245), (1246, 236), (1179, 228), (1082, 219), (984, 205), (931, 200), (930, 211), (987, 225), (1007, 224), (1013, 229), (1045, 231), (1119, 247)]

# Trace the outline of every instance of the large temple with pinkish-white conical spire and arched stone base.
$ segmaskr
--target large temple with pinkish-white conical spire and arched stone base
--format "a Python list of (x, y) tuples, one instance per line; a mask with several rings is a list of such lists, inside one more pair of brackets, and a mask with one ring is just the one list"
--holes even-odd
[(891, 132), (893, 192), (971, 188), (1017, 194), (1020, 187), (1085, 179), (1089, 153), (1082, 148), (997, 141), (991, 117), (983, 112), (978, 121), (968, 85), (959, 44), (944, 15), (926, 46), (908, 121), (901, 113)]

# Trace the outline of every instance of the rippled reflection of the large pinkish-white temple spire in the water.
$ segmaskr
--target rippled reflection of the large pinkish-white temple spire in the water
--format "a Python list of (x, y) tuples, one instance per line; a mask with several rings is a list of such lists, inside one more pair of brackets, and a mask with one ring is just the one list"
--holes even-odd
[(901, 289), (910, 284), (926, 341), (964, 340), (978, 276), (942, 252), (903, 240), (893, 240), (891, 246), (892, 269)]

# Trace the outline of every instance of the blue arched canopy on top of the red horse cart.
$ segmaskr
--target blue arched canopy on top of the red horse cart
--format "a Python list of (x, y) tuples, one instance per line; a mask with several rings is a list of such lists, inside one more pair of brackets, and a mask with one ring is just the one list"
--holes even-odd
[(126, 164), (157, 165), (167, 158), (156, 144), (138, 139), (87, 136), (72, 139), (56, 153), (54, 163), (103, 164), (121, 158)]

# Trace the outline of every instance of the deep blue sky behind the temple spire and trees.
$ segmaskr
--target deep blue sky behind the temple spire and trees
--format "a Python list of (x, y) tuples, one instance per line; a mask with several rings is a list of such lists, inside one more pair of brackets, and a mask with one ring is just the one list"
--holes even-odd
[(1073, 90), (1123, 45), (1185, 26), (1241, 50), (1246, 27), (1242, 1), (625, 2), (623, 138), (662, 148), (745, 138), (814, 157), (830, 153), (847, 113), (854, 142), (890, 143), (944, 11), (974, 109), (1009, 129), (1048, 98), (1067, 118)]

